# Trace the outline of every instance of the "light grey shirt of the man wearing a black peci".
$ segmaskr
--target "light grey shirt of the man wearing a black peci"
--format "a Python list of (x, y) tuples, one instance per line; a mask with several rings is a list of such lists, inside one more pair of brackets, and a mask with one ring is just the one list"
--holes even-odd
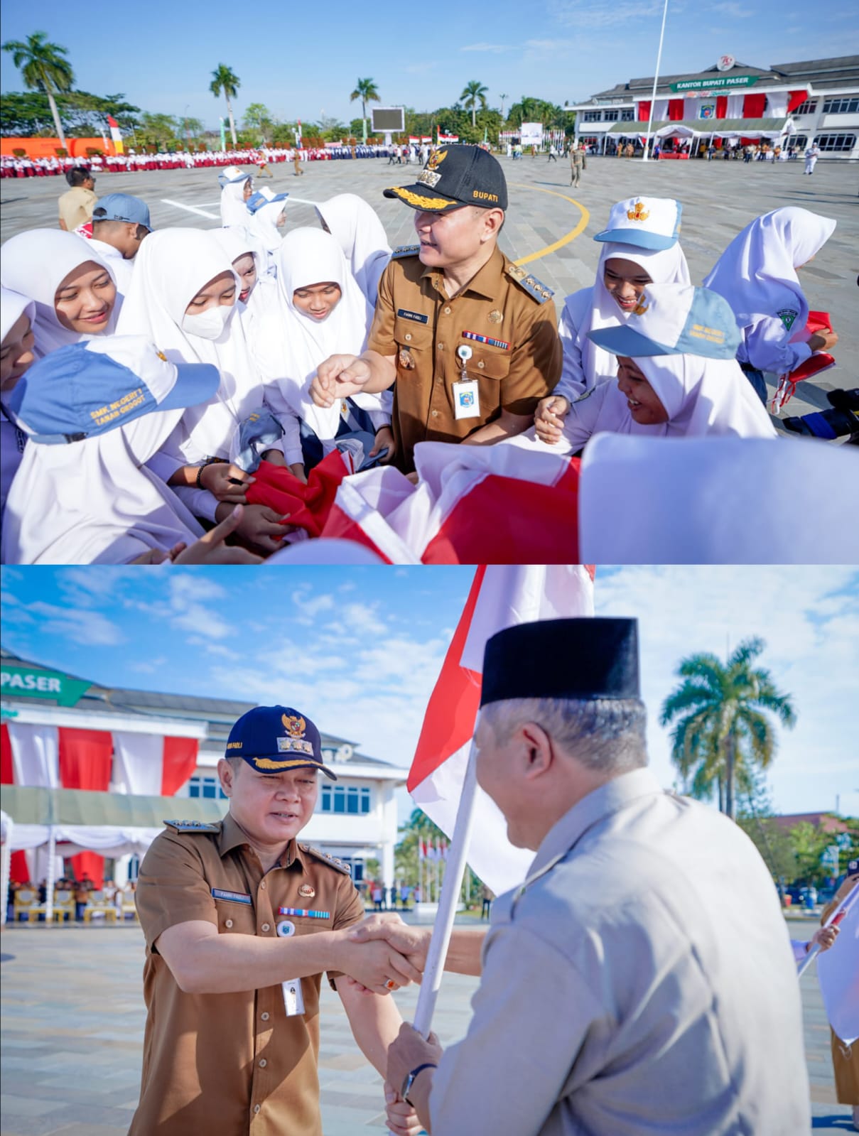
[(495, 900), (434, 1136), (809, 1131), (799, 984), (775, 887), (714, 809), (637, 769), (548, 833)]

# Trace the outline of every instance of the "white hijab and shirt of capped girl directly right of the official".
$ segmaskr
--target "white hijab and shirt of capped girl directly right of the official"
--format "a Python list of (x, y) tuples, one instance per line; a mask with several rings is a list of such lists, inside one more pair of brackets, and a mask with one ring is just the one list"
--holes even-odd
[(607, 242), (600, 253), (593, 285), (567, 296), (558, 324), (564, 367), (552, 394), (562, 394), (570, 402), (617, 375), (617, 356), (587, 339), (591, 331), (618, 327), (629, 318), (629, 312), (620, 310), (606, 287), (606, 261), (612, 258), (640, 265), (653, 284), (692, 283), (686, 258), (676, 242), (670, 249), (637, 249), (632, 244)]

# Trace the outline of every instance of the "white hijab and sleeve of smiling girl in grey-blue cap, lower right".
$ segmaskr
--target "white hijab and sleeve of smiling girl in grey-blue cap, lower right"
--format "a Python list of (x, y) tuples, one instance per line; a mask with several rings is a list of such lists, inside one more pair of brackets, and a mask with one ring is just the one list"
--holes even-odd
[(735, 359), (701, 356), (647, 356), (635, 362), (668, 414), (654, 426), (636, 423), (616, 382), (603, 383), (567, 418), (579, 449), (581, 431), (649, 437), (775, 437), (769, 415)]

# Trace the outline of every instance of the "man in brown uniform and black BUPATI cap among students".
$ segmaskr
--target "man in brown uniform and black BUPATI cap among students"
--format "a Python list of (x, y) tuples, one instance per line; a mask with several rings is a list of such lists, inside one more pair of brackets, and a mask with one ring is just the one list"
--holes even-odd
[(419, 243), (397, 249), (360, 357), (332, 356), (311, 395), (394, 387), (394, 463), (418, 442), (486, 445), (531, 425), (560, 377), (552, 291), (498, 248), (507, 184), (479, 147), (436, 151), (414, 185), (385, 190), (415, 210)]

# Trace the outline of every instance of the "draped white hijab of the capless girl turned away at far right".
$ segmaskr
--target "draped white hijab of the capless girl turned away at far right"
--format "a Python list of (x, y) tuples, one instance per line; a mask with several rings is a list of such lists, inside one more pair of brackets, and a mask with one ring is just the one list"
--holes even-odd
[(820, 251), (835, 224), (798, 206), (756, 217), (722, 253), (704, 287), (725, 296), (741, 328), (789, 309), (799, 312), (793, 331), (801, 331), (808, 320), (808, 301), (797, 269)]

